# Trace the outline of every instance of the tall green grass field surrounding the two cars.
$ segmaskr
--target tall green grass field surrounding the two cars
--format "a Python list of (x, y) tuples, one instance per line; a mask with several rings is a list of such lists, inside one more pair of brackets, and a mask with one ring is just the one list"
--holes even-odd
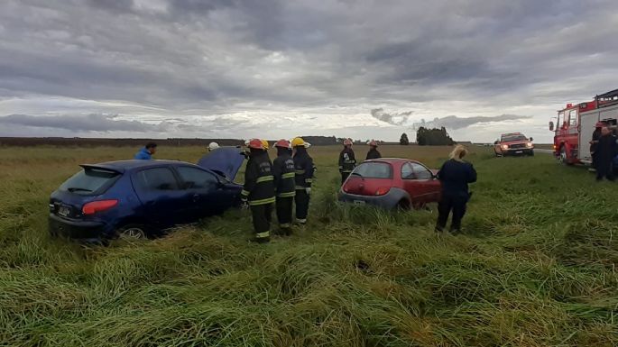
[[(338, 148), (312, 148), (311, 217), (290, 238), (250, 244), (235, 210), (156, 241), (51, 239), (51, 191), (134, 151), (0, 148), (1, 346), (618, 345), (618, 187), (586, 169), (475, 148), (466, 233), (440, 236), (435, 211), (337, 205)], [(449, 149), (381, 151), (438, 167)]]

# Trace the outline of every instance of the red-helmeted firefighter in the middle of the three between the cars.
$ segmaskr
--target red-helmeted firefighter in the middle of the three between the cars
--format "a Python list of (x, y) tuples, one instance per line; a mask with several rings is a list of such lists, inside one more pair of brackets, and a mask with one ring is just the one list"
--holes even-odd
[(281, 232), (290, 236), (292, 205), (294, 196), (296, 196), (296, 169), (290, 153), (291, 143), (287, 140), (280, 140), (275, 143), (274, 147), (277, 149), (277, 158), (272, 163), (272, 176), (277, 195), (277, 220)]

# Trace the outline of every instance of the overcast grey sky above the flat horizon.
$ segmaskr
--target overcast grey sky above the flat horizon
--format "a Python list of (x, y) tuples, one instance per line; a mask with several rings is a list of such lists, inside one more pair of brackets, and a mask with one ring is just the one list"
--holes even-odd
[(0, 136), (549, 142), (616, 37), (613, 0), (2, 0)]

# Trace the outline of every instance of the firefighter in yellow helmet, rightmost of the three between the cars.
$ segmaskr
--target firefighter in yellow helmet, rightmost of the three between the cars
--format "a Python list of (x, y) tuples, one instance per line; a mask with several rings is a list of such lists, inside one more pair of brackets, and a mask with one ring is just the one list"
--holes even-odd
[(309, 215), (309, 199), (311, 196), (311, 184), (313, 183), (313, 159), (309, 156), (307, 148), (309, 143), (302, 138), (297, 137), (291, 142), (294, 151), (294, 171), (296, 183), (296, 221), (301, 224), (307, 224), (307, 215)]

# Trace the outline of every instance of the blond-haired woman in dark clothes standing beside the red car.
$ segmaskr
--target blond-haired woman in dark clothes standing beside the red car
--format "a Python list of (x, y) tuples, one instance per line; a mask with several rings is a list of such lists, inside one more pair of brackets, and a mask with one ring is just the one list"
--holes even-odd
[(468, 183), (476, 182), (476, 170), (472, 164), (463, 160), (467, 151), (458, 145), (438, 171), (438, 179), (442, 183), (442, 198), (438, 203), (438, 222), (436, 231), (443, 232), (447, 226), (448, 215), (453, 213), (450, 232), (461, 232), (461, 220), (466, 215), (466, 204), (470, 199)]

